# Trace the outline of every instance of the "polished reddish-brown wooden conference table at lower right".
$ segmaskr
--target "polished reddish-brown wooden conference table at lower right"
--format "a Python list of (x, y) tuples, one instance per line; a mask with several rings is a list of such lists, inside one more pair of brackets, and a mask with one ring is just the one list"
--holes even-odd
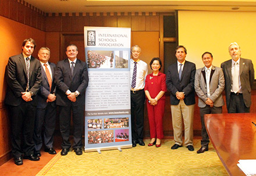
[[(205, 127), (229, 175), (245, 175), (239, 160), (256, 159), (256, 113), (206, 114)], [(256, 167), (256, 166), (255, 166)]]

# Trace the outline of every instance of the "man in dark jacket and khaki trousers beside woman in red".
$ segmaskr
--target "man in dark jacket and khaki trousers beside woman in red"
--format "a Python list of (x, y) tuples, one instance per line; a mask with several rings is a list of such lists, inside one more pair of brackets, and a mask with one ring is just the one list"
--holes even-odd
[(170, 91), (170, 109), (175, 145), (172, 149), (182, 146), (182, 120), (184, 121), (184, 145), (193, 151), (193, 118), (195, 104), (195, 64), (185, 60), (187, 49), (179, 45), (176, 48), (177, 62), (168, 68), (166, 85)]

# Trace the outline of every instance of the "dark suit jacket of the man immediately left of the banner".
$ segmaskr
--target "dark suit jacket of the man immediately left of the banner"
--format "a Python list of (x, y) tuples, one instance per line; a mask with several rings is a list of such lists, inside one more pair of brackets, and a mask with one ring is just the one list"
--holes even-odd
[[(89, 81), (86, 62), (77, 59), (72, 76), (69, 60), (61, 60), (57, 63), (54, 78), (57, 86), (56, 105), (69, 106), (73, 103), (73, 106), (83, 106), (85, 104), (85, 91)], [(65, 94), (67, 89), (71, 92), (80, 92), (76, 102), (71, 102), (67, 98)]]

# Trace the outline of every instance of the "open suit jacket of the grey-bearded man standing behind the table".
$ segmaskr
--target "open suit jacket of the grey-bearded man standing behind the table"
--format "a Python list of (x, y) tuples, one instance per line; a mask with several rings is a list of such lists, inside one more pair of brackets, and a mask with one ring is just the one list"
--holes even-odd
[[(230, 93), (232, 88), (232, 59), (227, 60), (221, 64), (224, 77), (225, 77), (225, 92), (226, 92), (226, 103), (227, 108), (230, 103)], [(254, 82), (254, 68), (253, 62), (250, 59), (240, 58), (239, 63), (239, 76), (241, 82), (241, 91), (243, 92), (244, 104), (246, 107), (251, 106), (251, 87)]]

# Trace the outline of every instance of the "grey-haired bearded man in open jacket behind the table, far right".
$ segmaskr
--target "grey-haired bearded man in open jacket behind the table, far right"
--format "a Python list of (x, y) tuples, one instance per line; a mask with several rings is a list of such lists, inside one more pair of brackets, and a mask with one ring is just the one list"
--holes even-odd
[(251, 87), (254, 82), (253, 62), (240, 58), (240, 46), (233, 42), (229, 45), (232, 59), (221, 64), (225, 77), (225, 92), (228, 113), (250, 113)]

